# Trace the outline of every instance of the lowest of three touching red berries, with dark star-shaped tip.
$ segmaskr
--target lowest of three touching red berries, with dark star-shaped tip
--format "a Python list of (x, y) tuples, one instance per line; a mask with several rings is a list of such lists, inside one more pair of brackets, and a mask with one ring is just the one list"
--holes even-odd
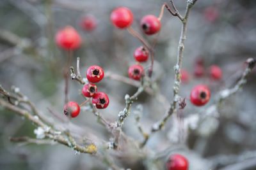
[(92, 98), (92, 103), (95, 104), (96, 108), (104, 109), (109, 104), (108, 95), (104, 92), (97, 92)]

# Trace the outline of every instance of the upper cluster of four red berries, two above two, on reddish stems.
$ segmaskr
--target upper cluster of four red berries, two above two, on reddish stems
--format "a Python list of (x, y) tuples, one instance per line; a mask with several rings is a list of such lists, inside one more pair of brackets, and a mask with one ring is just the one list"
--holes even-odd
[[(118, 7), (115, 8), (110, 16), (110, 20), (115, 27), (118, 29), (129, 28), (133, 22), (133, 14), (129, 8)], [(142, 31), (147, 35), (156, 34), (161, 29), (161, 22), (159, 18), (154, 15), (146, 15), (140, 21)], [(134, 59), (138, 64), (134, 64), (129, 67), (128, 75), (133, 80), (140, 80), (144, 74), (144, 68), (141, 66), (141, 62), (147, 62), (148, 60), (148, 49), (145, 46), (136, 48), (133, 53)]]

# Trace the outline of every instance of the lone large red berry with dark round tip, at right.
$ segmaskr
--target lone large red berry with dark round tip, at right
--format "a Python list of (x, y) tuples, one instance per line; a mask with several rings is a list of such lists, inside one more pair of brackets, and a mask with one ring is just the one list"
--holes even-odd
[(211, 91), (206, 85), (196, 85), (191, 91), (190, 101), (195, 106), (204, 106), (211, 97)]

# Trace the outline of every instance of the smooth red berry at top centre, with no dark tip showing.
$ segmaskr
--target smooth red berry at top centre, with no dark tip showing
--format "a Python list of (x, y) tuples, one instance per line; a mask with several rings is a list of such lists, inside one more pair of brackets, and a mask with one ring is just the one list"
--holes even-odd
[(125, 29), (133, 22), (132, 11), (126, 7), (115, 8), (111, 13), (110, 20), (116, 27)]

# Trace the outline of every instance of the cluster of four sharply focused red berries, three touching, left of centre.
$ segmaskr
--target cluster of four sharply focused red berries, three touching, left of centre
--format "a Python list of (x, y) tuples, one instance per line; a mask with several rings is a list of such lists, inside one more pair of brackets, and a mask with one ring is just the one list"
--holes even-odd
[[(82, 89), (84, 97), (92, 97), (92, 103), (95, 104), (96, 108), (104, 109), (108, 107), (109, 98), (104, 92), (98, 92), (97, 85), (104, 77), (104, 70), (100, 66), (90, 66), (86, 72), (86, 78), (89, 83), (85, 84)], [(80, 106), (74, 101), (70, 101), (64, 106), (64, 114), (68, 117), (77, 117), (80, 112)]]

